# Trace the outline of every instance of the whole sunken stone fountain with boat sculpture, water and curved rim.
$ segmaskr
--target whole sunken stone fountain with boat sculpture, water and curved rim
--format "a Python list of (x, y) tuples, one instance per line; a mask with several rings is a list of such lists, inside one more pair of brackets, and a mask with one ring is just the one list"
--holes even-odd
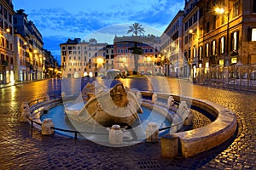
[[(158, 84), (155, 83), (155, 85), (157, 87)], [(75, 86), (69, 87), (66, 88), (79, 89)], [(86, 139), (98, 144), (120, 147), (142, 141), (158, 142), (160, 137), (161, 156), (164, 157), (193, 156), (222, 144), (236, 132), (235, 114), (221, 105), (206, 100), (176, 94), (140, 91), (125, 88), (124, 84), (107, 88), (98, 85), (97, 82), (87, 83), (79, 95), (72, 95), (69, 91), (62, 94), (62, 99), (53, 100), (48, 97), (46, 101), (30, 106), (29, 111), (27, 104), (24, 103), (20, 107), (20, 122), (26, 121), (26, 116), (31, 116), (30, 121), (49, 122), (49, 125), (45, 124), (46, 131), (55, 127), (59, 127), (55, 129), (60, 127), (67, 129), (62, 124), (55, 124), (55, 121), (58, 122), (57, 120), (60, 120), (66, 111), (67, 119), (64, 122), (72, 124), (75, 127), (73, 130), (83, 134)], [(207, 111), (207, 114), (214, 117), (210, 124), (183, 131), (184, 125), (189, 126), (193, 123), (193, 115), (188, 106), (189, 100), (194, 109)], [(177, 102), (180, 103), (178, 107)], [(105, 105), (108, 105), (106, 108), (109, 110), (105, 109)], [(130, 105), (133, 109), (125, 111), (130, 108)], [(63, 108), (62, 112), (55, 110), (59, 106)], [(54, 124), (44, 121), (51, 115), (52, 109), (49, 108), (54, 111)], [(49, 113), (45, 114), (46, 112)], [(102, 121), (99, 117), (102, 115), (107, 116), (108, 121), (105, 119)], [(123, 116), (119, 117), (119, 115)], [(38, 120), (40, 116), (41, 119)], [(166, 130), (165, 133), (162, 133), (163, 130)], [(52, 133), (50, 131), (45, 134)]]

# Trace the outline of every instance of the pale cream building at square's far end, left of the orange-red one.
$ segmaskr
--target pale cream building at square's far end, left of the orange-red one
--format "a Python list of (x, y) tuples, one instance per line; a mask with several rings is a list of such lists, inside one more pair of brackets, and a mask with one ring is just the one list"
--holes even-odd
[(106, 63), (107, 43), (89, 42), (80, 38), (61, 43), (62, 76), (67, 78), (97, 77)]

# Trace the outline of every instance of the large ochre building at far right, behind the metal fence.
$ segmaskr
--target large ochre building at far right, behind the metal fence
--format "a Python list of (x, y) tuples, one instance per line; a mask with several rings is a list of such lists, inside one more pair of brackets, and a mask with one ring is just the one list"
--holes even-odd
[[(199, 8), (197, 82), (241, 77), (237, 66), (255, 65), (256, 1), (201, 0)], [(247, 71), (249, 72), (249, 70)]]

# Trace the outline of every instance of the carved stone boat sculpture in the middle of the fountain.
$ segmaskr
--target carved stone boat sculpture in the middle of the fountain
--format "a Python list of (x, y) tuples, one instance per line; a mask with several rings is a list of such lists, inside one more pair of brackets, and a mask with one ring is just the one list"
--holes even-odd
[(131, 126), (143, 110), (137, 101), (136, 95), (125, 89), (122, 83), (113, 88), (102, 89), (96, 94), (86, 97), (87, 102), (76, 110), (75, 105), (65, 109), (69, 118), (81, 123), (99, 123), (104, 127), (113, 124)]

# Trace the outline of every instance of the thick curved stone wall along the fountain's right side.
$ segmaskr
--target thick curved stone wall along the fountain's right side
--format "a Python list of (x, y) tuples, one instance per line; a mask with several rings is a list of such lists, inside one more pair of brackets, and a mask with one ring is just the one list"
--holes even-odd
[[(175, 95), (173, 97), (177, 100), (181, 98)], [(178, 155), (194, 156), (224, 143), (236, 133), (237, 121), (234, 112), (222, 105), (202, 99), (192, 99), (192, 106), (207, 111), (215, 116), (216, 120), (205, 127), (163, 136), (160, 139), (161, 156), (168, 158)]]

